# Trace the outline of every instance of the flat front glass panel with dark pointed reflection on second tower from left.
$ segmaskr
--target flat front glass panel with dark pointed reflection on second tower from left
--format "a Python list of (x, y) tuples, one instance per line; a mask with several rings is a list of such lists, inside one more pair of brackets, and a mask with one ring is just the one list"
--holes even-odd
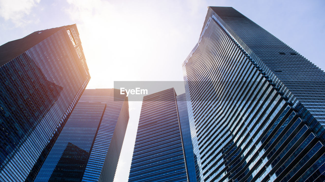
[(77, 103), (35, 182), (80, 181), (105, 106), (98, 102)]

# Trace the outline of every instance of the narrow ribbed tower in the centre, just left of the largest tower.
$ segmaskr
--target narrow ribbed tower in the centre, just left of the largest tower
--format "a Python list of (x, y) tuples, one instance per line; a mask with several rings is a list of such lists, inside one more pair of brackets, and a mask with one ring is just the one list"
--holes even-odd
[(143, 97), (129, 175), (134, 181), (196, 181), (185, 95), (176, 97), (174, 88)]

